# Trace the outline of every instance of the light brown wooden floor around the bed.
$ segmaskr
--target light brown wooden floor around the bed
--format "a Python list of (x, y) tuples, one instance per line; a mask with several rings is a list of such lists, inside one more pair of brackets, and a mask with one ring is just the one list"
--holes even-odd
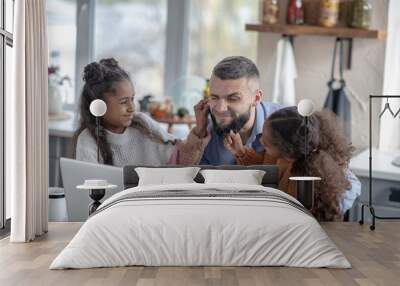
[(324, 229), (353, 268), (120, 267), (48, 270), (81, 224), (50, 223), (32, 243), (0, 241), (0, 285), (400, 285), (400, 222), (378, 222), (375, 231), (356, 223)]

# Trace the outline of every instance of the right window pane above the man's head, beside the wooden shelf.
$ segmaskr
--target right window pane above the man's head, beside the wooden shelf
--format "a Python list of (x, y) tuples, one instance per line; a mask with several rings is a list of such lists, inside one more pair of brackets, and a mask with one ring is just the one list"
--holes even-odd
[(257, 34), (244, 27), (258, 20), (258, 5), (258, 0), (192, 0), (189, 74), (208, 78), (215, 64), (227, 56), (256, 60)]

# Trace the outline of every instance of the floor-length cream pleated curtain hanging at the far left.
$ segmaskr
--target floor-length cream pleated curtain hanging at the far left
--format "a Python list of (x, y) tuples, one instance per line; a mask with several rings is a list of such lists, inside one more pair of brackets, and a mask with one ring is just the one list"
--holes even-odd
[(45, 0), (15, 1), (12, 96), (6, 98), (6, 187), (12, 242), (47, 232), (48, 127)]

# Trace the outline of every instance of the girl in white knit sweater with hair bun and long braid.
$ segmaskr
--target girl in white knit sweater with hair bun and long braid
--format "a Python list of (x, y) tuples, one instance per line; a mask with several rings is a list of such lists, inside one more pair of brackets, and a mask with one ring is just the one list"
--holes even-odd
[[(193, 149), (193, 144), (188, 145), (190, 150), (185, 150), (184, 142), (175, 140), (148, 115), (135, 112), (134, 86), (115, 59), (88, 64), (83, 80), (80, 126), (73, 140), (77, 160), (114, 166), (187, 165), (193, 162), (192, 156), (201, 154), (202, 150)], [(102, 99), (107, 105), (107, 112), (100, 118), (100, 162), (97, 162), (96, 118), (89, 111), (95, 99)]]

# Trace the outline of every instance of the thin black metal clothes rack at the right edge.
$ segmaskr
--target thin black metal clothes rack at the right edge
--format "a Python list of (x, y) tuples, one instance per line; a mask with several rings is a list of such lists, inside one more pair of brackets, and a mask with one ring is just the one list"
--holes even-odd
[[(372, 100), (374, 98), (399, 98), (400, 95), (370, 95), (369, 96), (369, 194), (368, 194), (368, 204), (362, 204), (361, 206), (361, 219), (359, 223), (364, 224), (364, 208), (369, 208), (369, 211), (372, 215), (372, 225), (370, 225), (370, 229), (375, 229), (375, 219), (388, 219), (388, 220), (399, 220), (400, 217), (384, 217), (378, 216), (375, 214), (375, 209), (372, 204)], [(400, 120), (400, 119), (399, 119)]]

